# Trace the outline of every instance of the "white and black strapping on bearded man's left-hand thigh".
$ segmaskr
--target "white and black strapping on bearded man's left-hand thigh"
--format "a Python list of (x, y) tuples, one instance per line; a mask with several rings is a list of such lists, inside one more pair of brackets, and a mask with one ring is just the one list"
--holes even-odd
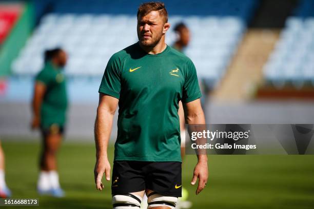
[[(132, 196), (137, 197), (140, 201)], [(138, 195), (114, 195), (112, 197), (112, 205), (114, 209), (138, 209), (141, 206), (141, 200), (142, 198)]]

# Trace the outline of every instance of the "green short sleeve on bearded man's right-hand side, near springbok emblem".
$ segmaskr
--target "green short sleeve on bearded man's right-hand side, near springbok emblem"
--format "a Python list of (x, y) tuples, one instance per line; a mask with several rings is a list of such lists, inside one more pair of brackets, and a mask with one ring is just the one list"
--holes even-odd
[(202, 94), (195, 66), (191, 60), (186, 64), (186, 76), (182, 90), (182, 102), (187, 103), (201, 98)]

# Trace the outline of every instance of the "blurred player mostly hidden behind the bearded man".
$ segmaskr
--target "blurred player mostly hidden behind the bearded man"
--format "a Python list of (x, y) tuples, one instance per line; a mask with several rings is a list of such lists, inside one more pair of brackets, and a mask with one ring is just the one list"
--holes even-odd
[[(178, 23), (174, 26), (174, 32), (176, 34), (176, 40), (172, 45), (172, 48), (184, 53), (185, 48), (190, 42), (190, 30), (184, 23)], [(184, 159), (185, 155), (185, 119), (182, 101), (179, 102), (179, 118), (180, 118), (180, 131), (181, 131), (181, 158)], [(179, 198), (176, 208), (190, 208), (192, 203), (187, 201), (188, 191), (182, 186), (182, 197)]]

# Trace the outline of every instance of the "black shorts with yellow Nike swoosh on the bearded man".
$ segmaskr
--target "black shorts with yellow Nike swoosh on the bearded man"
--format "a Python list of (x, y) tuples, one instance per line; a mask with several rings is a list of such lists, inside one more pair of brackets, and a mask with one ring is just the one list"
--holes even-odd
[(114, 161), (111, 193), (152, 190), (164, 196), (181, 197), (181, 162)]

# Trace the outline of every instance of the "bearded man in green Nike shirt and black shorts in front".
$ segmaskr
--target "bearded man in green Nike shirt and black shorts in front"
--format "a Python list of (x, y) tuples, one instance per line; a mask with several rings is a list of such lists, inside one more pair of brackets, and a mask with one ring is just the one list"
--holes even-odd
[[(95, 121), (96, 188), (110, 180), (107, 157), (114, 112), (119, 105), (118, 133), (112, 172), (115, 209), (175, 208), (181, 197), (179, 101), (189, 124), (204, 124), (201, 92), (193, 62), (165, 44), (170, 27), (163, 3), (144, 3), (138, 10), (135, 43), (109, 59), (100, 85)], [(127, 31), (126, 31), (127, 32)], [(191, 184), (196, 194), (207, 182), (207, 156), (198, 155)]]

